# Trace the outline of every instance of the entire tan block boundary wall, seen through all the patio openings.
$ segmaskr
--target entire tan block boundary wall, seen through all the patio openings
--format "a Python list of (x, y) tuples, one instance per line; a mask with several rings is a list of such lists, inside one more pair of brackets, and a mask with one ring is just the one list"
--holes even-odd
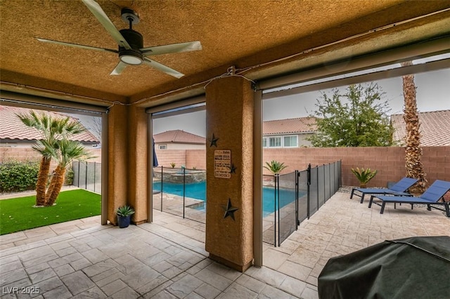
[[(423, 147), (422, 163), (428, 184), (435, 180), (450, 181), (450, 147)], [(93, 149), (96, 159), (100, 162), (101, 149)], [(160, 166), (205, 169), (205, 150), (156, 150)], [(7, 159), (40, 159), (40, 155), (25, 147), (0, 147), (0, 162)], [(264, 149), (263, 164), (276, 160), (288, 166), (283, 173), (304, 170), (311, 166), (332, 163), (342, 159), (342, 185), (359, 185), (358, 180), (350, 171), (351, 168), (364, 167), (377, 169), (378, 174), (369, 182), (369, 187), (386, 186), (405, 175), (404, 147), (302, 147), (295, 149)], [(264, 174), (269, 171), (264, 169)]]

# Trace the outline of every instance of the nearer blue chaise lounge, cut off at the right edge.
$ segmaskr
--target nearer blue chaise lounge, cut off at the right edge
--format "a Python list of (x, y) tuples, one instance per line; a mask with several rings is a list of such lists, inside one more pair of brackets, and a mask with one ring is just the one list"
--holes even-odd
[[(373, 198), (378, 198), (382, 202), (382, 204), (378, 204), (381, 206), (380, 214), (383, 214), (385, 211), (385, 205), (387, 202), (391, 203), (399, 203), (399, 204), (411, 204), (411, 210), (413, 209), (413, 204), (426, 204), (428, 206), (428, 211), (431, 211), (431, 208), (436, 208), (435, 206), (431, 206), (432, 204), (444, 205), (445, 210), (442, 208), (436, 208), (441, 211), (445, 211), (447, 217), (450, 217), (450, 201), (440, 201), (446, 192), (450, 190), (450, 182), (446, 182), (444, 180), (435, 180), (428, 189), (423, 192), (420, 197), (401, 197), (401, 196), (385, 196), (385, 195), (372, 195), (371, 200), (368, 203), (368, 207), (370, 208), (373, 203)], [(377, 203), (374, 203), (377, 204)], [(395, 208), (395, 206), (394, 206)]]

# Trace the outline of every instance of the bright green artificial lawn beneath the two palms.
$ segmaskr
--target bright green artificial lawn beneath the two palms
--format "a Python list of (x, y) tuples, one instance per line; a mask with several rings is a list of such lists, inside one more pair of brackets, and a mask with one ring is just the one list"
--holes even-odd
[(20, 232), (100, 215), (101, 195), (86, 190), (63, 191), (55, 206), (33, 208), (36, 196), (0, 200), (0, 234)]

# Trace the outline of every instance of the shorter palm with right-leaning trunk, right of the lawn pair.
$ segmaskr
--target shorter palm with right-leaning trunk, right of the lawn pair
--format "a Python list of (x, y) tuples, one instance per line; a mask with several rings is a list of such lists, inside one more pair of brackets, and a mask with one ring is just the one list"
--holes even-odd
[(45, 206), (53, 206), (58, 198), (61, 187), (63, 187), (65, 170), (70, 163), (74, 159), (89, 159), (91, 157), (89, 151), (78, 141), (65, 138), (58, 140), (57, 147), (55, 158), (58, 160), (58, 166), (53, 173), (53, 178), (51, 178)]

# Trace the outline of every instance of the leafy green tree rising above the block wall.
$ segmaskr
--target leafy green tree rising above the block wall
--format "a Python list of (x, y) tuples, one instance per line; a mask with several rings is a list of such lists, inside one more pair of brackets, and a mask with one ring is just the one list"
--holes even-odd
[(385, 147), (392, 145), (392, 125), (387, 101), (378, 84), (350, 85), (345, 92), (333, 89), (317, 100), (314, 147)]

